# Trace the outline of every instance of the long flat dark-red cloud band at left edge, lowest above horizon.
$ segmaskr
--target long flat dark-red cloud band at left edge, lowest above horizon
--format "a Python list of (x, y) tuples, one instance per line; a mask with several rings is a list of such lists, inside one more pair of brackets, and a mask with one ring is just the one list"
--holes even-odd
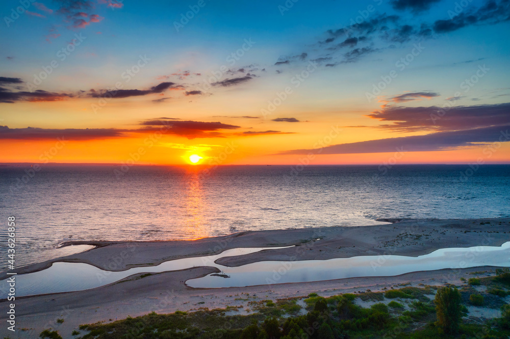
[(124, 131), (115, 128), (9, 128), (0, 126), (0, 139), (41, 140), (63, 138), (71, 140), (105, 139), (123, 136)]

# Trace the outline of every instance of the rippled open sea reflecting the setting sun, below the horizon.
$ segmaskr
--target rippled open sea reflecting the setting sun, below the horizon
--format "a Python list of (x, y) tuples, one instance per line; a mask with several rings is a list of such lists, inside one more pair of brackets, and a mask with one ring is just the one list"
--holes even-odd
[[(196, 239), (248, 230), (378, 224), (376, 218), (510, 216), (510, 165), (0, 167), (0, 251), (16, 266), (65, 240)], [(385, 170), (385, 168), (382, 168)], [(118, 174), (118, 172), (117, 172)], [(466, 176), (467, 174), (467, 176)], [(25, 177), (23, 177), (25, 176)], [(22, 180), (26, 183), (22, 183)], [(3, 262), (0, 267), (5, 268)]]

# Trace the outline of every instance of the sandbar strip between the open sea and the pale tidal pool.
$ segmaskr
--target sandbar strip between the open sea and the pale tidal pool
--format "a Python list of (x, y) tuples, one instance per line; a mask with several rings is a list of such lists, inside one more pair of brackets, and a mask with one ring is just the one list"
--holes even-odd
[[(133, 267), (156, 266), (169, 260), (217, 255), (236, 247), (295, 246), (221, 258), (218, 264), (241, 266), (258, 261), (327, 260), (388, 254), (417, 257), (440, 248), (501, 246), (510, 241), (510, 218), (376, 220), (389, 223), (244, 231), (196, 240), (66, 241), (59, 248), (70, 245), (95, 247), (73, 255), (25, 265), (18, 268), (16, 273), (41, 271), (54, 262), (86, 263), (103, 270), (123, 271)], [(5, 278), (7, 274), (1, 273), (0, 280)]]

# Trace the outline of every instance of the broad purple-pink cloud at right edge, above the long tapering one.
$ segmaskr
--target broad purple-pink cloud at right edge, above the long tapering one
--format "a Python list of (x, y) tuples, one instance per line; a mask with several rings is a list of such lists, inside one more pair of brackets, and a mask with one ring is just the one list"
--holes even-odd
[(455, 131), (510, 124), (510, 103), (441, 107), (389, 106), (368, 115), (379, 121), (393, 122), (377, 128), (397, 132)]

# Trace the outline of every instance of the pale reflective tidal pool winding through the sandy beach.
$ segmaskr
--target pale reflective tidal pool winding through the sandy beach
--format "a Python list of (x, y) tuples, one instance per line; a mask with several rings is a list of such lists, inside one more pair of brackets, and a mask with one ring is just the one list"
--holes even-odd
[[(291, 246), (287, 246), (291, 247)], [(221, 273), (189, 279), (193, 288), (224, 288), (284, 283), (302, 283), (362, 276), (391, 276), (416, 271), (476, 266), (510, 267), (510, 242), (501, 246), (443, 248), (419, 257), (359, 256), (329, 260), (263, 261), (238, 267), (215, 263), (223, 257), (241, 256), (262, 250), (286, 247), (227, 249), (214, 256), (171, 260), (154, 267), (136, 267), (125, 271), (106, 271), (84, 263), (56, 262), (45, 270), (16, 276), (16, 296), (71, 292), (108, 285), (137, 273), (158, 273), (197, 266), (212, 266)], [(2, 280), (0, 298), (6, 298), (6, 280)]]

